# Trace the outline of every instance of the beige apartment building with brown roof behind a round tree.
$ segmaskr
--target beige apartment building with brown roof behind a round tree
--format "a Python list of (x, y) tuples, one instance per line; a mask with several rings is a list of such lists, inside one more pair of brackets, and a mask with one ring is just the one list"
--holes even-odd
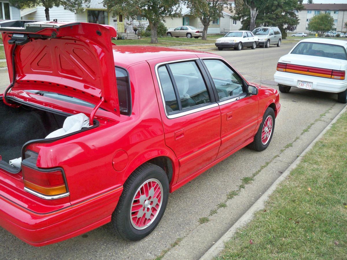
[(303, 4), (304, 9), (297, 12), (299, 18), (299, 24), (296, 27), (296, 32), (308, 33), (308, 23), (310, 19), (318, 14), (330, 14), (334, 19), (335, 28), (334, 31), (346, 31), (344, 28), (347, 22), (347, 4), (337, 4), (337, 3), (310, 3)]

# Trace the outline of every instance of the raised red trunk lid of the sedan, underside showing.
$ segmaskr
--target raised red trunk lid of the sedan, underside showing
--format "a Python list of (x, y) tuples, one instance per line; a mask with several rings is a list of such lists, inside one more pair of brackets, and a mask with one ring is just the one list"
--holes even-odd
[(0, 27), (11, 81), (14, 55), (12, 91), (56, 92), (120, 115), (114, 27), (57, 21), (3, 21)]

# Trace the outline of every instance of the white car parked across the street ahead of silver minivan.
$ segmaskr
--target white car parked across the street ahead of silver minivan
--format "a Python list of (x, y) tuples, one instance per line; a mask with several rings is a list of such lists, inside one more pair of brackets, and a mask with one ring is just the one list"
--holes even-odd
[(249, 31), (232, 31), (227, 33), (224, 37), (216, 40), (215, 45), (218, 50), (223, 48), (233, 47), (235, 50), (242, 50), (244, 47), (252, 48), (253, 50), (257, 47), (259, 39)]

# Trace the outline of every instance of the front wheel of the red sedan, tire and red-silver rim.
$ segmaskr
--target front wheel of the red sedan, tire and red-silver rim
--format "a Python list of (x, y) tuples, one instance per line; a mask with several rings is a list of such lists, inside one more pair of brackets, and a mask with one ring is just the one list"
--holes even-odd
[(273, 130), (275, 129), (275, 112), (271, 107), (265, 110), (263, 121), (254, 137), (254, 140), (249, 144), (249, 148), (262, 151), (265, 150), (272, 139)]

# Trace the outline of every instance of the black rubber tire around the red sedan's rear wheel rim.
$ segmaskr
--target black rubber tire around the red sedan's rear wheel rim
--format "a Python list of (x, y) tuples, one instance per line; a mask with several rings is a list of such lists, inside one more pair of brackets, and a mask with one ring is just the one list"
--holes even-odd
[[(144, 229), (136, 229), (134, 228), (132, 220), (130, 219), (130, 208), (138, 189), (142, 186), (142, 184), (150, 179), (157, 180), (162, 186), (161, 206), (158, 214), (148, 227)], [(145, 163), (141, 165), (129, 176), (128, 180), (123, 186), (123, 192), (119, 198), (117, 207), (112, 213), (112, 219), (110, 223), (111, 231), (113, 231), (116, 236), (122, 239), (131, 241), (138, 241), (143, 239), (145, 236), (149, 235), (160, 222), (160, 219), (162, 218), (166, 209), (168, 195), (169, 181), (163, 169), (151, 163)], [(150, 200), (149, 198), (147, 199), (148, 201)], [(150, 207), (149, 205), (151, 204), (148, 203), (147, 207)]]

